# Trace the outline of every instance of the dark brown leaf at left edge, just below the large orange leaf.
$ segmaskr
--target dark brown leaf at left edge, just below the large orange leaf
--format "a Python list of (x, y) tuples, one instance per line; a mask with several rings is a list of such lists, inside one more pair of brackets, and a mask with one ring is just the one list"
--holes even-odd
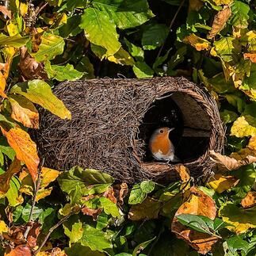
[(16, 158), (11, 163), (9, 169), (2, 175), (0, 175), (0, 194), (6, 193), (10, 188), (10, 180), (14, 174), (17, 174), (21, 170), (21, 161)]

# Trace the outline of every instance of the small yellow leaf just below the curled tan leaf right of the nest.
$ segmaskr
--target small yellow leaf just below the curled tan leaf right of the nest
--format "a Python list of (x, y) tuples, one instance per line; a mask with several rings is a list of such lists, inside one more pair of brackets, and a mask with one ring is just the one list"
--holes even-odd
[(214, 189), (217, 193), (223, 193), (224, 191), (227, 191), (228, 189), (231, 189), (235, 185), (237, 185), (239, 182), (239, 179), (233, 177), (233, 176), (223, 176), (222, 174), (215, 174), (214, 177), (212, 177), (208, 181), (208, 186), (212, 189)]

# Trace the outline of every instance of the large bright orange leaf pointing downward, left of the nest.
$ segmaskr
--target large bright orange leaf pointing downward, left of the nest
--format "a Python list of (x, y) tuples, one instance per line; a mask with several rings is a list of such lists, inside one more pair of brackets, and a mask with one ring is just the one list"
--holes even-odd
[(37, 168), (40, 159), (36, 152), (36, 143), (32, 141), (29, 133), (21, 128), (11, 128), (9, 132), (4, 132), (10, 147), (16, 152), (17, 159), (25, 162), (32, 176), (32, 180), (36, 181)]

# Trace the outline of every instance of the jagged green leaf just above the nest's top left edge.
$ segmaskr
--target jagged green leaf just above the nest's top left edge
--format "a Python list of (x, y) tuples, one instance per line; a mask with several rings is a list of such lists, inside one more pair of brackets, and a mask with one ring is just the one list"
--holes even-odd
[(49, 61), (44, 64), (44, 71), (46, 71), (48, 78), (54, 78), (58, 81), (75, 81), (84, 75), (84, 73), (76, 71), (71, 64), (66, 66), (51, 65)]

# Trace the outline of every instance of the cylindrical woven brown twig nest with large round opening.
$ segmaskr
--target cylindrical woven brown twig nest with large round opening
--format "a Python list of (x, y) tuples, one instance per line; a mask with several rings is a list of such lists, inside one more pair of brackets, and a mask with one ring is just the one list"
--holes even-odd
[(36, 140), (47, 166), (57, 170), (79, 165), (128, 183), (174, 180), (175, 166), (155, 161), (147, 149), (162, 126), (175, 127), (176, 155), (194, 177), (208, 176), (214, 164), (209, 151), (223, 149), (216, 101), (185, 78), (64, 82), (55, 94), (72, 120), (42, 113)]

